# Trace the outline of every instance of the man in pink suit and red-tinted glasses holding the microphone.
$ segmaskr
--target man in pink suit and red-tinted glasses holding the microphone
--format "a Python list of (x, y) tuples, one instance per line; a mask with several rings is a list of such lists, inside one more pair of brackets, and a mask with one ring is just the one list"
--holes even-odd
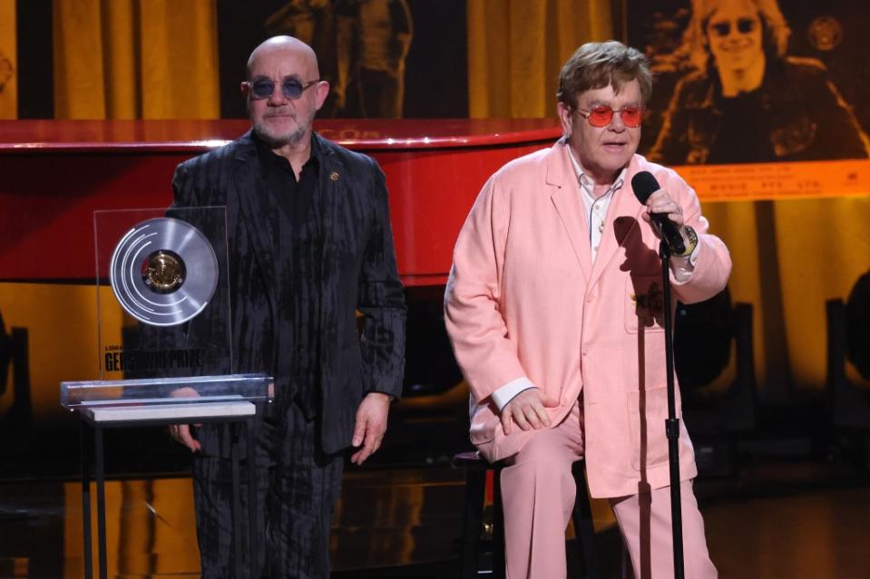
[[(680, 301), (718, 294), (731, 261), (695, 192), (635, 154), (650, 92), (641, 53), (583, 44), (562, 67), (564, 137), (499, 169), (456, 243), (446, 324), (472, 390), (471, 439), (508, 465), (510, 579), (565, 576), (571, 464), (584, 456), (591, 495), (610, 500), (635, 576), (673, 576), (662, 316), (675, 304), (662, 304), (650, 214), (667, 215), (684, 238), (670, 272)], [(660, 183), (645, 207), (631, 188), (640, 171)], [(679, 418), (679, 392), (677, 404)], [(679, 469), (686, 576), (716, 577), (682, 422)]]

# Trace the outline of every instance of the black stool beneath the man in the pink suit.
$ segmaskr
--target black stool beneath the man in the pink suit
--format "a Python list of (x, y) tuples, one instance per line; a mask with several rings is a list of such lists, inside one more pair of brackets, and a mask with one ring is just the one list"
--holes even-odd
[[(481, 529), (484, 519), (486, 472), (493, 470), (493, 573), (495, 579), (504, 578), (504, 514), (502, 510), (501, 474), (503, 462), (490, 464), (476, 451), (461, 452), (453, 458), (453, 467), (465, 471), (465, 501), (463, 508), (462, 553), (460, 577), (474, 579), (478, 576), (478, 553), (481, 547)], [(585, 462), (578, 460), (572, 465), (577, 496), (574, 499), (572, 521), (577, 536), (582, 576), (598, 579), (601, 571), (595, 554), (595, 529), (592, 526), (592, 510), (586, 491)]]

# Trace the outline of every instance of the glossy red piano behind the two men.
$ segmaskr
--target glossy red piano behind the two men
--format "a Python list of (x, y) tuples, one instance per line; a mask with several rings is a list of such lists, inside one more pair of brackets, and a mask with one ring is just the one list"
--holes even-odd
[[(93, 210), (165, 207), (184, 159), (248, 121), (0, 121), (0, 280), (93, 279)], [(444, 284), (465, 214), (495, 169), (561, 134), (556, 120), (318, 121), (380, 163), (406, 285)]]

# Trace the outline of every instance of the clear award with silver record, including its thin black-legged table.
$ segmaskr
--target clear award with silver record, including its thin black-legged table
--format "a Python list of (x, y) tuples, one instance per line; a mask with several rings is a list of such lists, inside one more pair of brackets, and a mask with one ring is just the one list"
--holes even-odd
[[(93, 576), (91, 456), (97, 491), (99, 576), (106, 577), (103, 429), (221, 422), (252, 433), (271, 400), (265, 374), (232, 374), (225, 207), (96, 211), (100, 380), (61, 383), (61, 404), (82, 419), (84, 572)], [(237, 436), (239, 432), (235, 433)], [(254, 437), (245, 436), (249, 456)], [(238, 444), (233, 445), (236, 574), (241, 575)], [(253, 481), (254, 461), (248, 460)], [(249, 484), (249, 565), (255, 565), (256, 485)]]

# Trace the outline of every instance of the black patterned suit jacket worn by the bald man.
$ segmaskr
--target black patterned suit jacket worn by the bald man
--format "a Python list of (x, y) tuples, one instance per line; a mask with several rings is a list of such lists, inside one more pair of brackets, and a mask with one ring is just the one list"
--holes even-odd
[[(396, 269), (386, 181), (376, 162), (318, 135), (318, 195), (322, 260), (320, 275), (320, 441), (325, 452), (350, 445), (357, 406), (367, 392), (398, 397), (405, 364), (405, 296)], [(189, 159), (172, 179), (173, 207), (227, 207), (230, 278), (230, 368), (210, 373), (276, 375), (275, 285), (268, 193), (257, 147), (247, 133), (224, 147)], [(217, 308), (219, 311), (221, 308)], [(357, 310), (363, 314), (357, 333)], [(222, 308), (226, 311), (226, 308)], [(200, 319), (202, 318), (202, 319)], [(226, 326), (223, 316), (197, 324)], [(276, 383), (276, 402), (292, 398)], [(210, 446), (201, 439), (203, 450)], [(215, 442), (216, 443), (216, 442)], [(222, 445), (221, 445), (222, 446)], [(227, 449), (216, 449), (225, 454)]]

